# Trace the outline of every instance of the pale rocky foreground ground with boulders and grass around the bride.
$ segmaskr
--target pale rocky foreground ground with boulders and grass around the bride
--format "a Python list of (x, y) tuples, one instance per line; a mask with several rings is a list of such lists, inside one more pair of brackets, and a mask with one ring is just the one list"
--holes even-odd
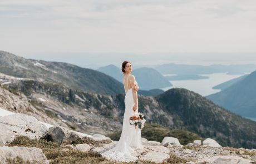
[[(101, 153), (116, 141), (100, 134), (86, 135), (65, 127), (49, 129), (35, 117), (24, 114), (0, 116), (0, 161), (2, 163), (120, 163), (108, 161)], [(137, 150), (130, 163), (253, 163), (256, 150), (221, 147), (207, 138), (180, 145), (165, 137), (160, 142), (142, 138), (144, 148)]]

